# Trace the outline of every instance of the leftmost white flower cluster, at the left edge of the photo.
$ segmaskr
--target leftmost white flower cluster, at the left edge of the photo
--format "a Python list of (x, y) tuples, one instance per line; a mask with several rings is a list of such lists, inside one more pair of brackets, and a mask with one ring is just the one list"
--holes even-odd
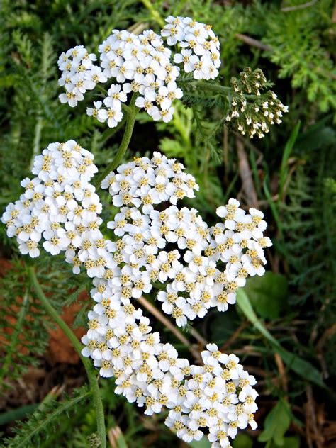
[[(16, 236), (22, 254), (38, 257), (43, 239), (43, 248), (50, 254), (65, 251), (75, 273), (82, 263), (91, 276), (100, 265), (109, 264), (103, 252), (106, 242), (99, 231), (101, 203), (90, 184), (98, 171), (93, 159), (91, 152), (74, 140), (51, 143), (35, 157), (32, 172), (37, 177), (21, 181), (25, 193), (2, 215), (7, 235)], [(95, 269), (89, 269), (89, 255)]]

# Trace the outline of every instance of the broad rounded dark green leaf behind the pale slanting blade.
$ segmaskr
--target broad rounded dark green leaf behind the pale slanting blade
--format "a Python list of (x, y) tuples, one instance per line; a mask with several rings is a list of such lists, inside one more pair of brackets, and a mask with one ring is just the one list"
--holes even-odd
[(281, 274), (266, 272), (262, 277), (250, 277), (244, 290), (253, 308), (264, 319), (279, 318), (281, 310), (286, 307), (288, 284)]

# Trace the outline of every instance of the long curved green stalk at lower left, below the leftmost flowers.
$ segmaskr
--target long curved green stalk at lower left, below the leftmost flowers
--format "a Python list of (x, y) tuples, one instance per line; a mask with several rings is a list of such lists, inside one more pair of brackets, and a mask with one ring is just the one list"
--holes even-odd
[(82, 360), (82, 363), (86, 370), (87, 377), (89, 379), (89, 386), (91, 389), (92, 397), (94, 398), (94, 408), (96, 409), (97, 432), (99, 438), (101, 439), (100, 448), (106, 448), (106, 429), (105, 429), (105, 419), (103, 415), (103, 403), (101, 401), (101, 394), (99, 391), (98, 378), (96, 376), (96, 372), (94, 371), (91, 362), (89, 362), (89, 359), (86, 359), (82, 356), (82, 345), (77, 339), (76, 335), (74, 335), (74, 332), (72, 332), (72, 330), (67, 326), (65, 321), (62, 318), (60, 318), (60, 315), (58, 315), (55, 308), (51, 305), (50, 301), (48, 301), (47, 297), (43, 293), (33, 267), (28, 267), (28, 276), (30, 278), (31, 283), (33, 284), (33, 288), (35, 290), (36, 295), (38, 296), (38, 299), (40, 300), (40, 303), (43, 305), (43, 308), (45, 308), (50, 318), (52, 318), (52, 320), (54, 320), (55, 323), (57, 323), (57, 325), (60, 327), (60, 329), (65, 333), (69, 341), (72, 342), (72, 345), (74, 346), (77, 353), (79, 354), (80, 359)]

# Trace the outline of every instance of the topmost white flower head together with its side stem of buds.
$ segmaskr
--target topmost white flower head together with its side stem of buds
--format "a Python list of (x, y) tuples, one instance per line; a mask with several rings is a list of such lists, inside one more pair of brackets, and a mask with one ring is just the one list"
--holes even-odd
[[(96, 55), (89, 53), (83, 45), (63, 52), (58, 60), (62, 71), (59, 84), (65, 87), (66, 93), (60, 94), (60, 101), (75, 107), (78, 101), (84, 100), (86, 91), (97, 88), (103, 98), (93, 101), (86, 113), (114, 128), (123, 120), (124, 111), (128, 111), (128, 95), (135, 94), (135, 106), (145, 109), (153, 120), (171, 121), (174, 101), (184, 95), (178, 82), (186, 82), (186, 74), (192, 74), (192, 82), (218, 77), (220, 43), (210, 25), (189, 17), (169, 16), (166, 22), (161, 36), (152, 30), (145, 30), (140, 35), (113, 30), (98, 47), (99, 64)], [(174, 51), (164, 46), (164, 40), (174, 47)], [(257, 103), (249, 108), (245, 91), (247, 98), (251, 92), (260, 95), (259, 89), (266, 84), (261, 70), (250, 72), (248, 67), (240, 82), (232, 80), (229, 90), (233, 99), (226, 120), (240, 117), (233, 120), (237, 123), (235, 128), (242, 134), (247, 132), (251, 138), (255, 134), (261, 138), (268, 132), (269, 124), (281, 123), (280, 117), (287, 108), (271, 91), (264, 94), (266, 97), (261, 96), (261, 106)], [(106, 83), (107, 86), (101, 85)], [(217, 88), (218, 93), (228, 96), (226, 88), (221, 90), (220, 86), (207, 83), (199, 85), (202, 89), (216, 91)], [(187, 88), (186, 84), (184, 88)]]

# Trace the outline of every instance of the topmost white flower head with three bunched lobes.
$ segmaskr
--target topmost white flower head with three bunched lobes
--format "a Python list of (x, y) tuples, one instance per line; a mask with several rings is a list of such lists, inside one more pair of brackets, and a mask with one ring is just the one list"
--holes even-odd
[[(174, 20), (173, 20), (174, 19)], [(219, 41), (211, 26), (191, 18), (167, 18), (169, 24), (162, 30), (168, 45), (177, 41), (181, 54), (174, 55), (174, 62), (184, 62), (184, 71), (193, 72), (196, 79), (214, 79), (220, 65)], [(172, 37), (174, 35), (174, 37)], [(99, 82), (115, 79), (103, 101), (94, 101), (94, 107), (86, 109), (101, 123), (115, 127), (123, 118), (122, 103), (127, 94), (138, 95), (135, 105), (144, 108), (153, 120), (172, 120), (174, 99), (183, 92), (177, 87), (179, 67), (172, 64), (172, 51), (164, 47), (162, 38), (152, 30), (135, 35), (127, 30), (113, 30), (98, 47), (100, 66), (94, 65), (96, 55), (89, 54), (79, 45), (60, 55), (58, 65), (62, 71), (60, 86), (66, 93), (60, 94), (62, 103), (77, 106), (87, 90)]]

